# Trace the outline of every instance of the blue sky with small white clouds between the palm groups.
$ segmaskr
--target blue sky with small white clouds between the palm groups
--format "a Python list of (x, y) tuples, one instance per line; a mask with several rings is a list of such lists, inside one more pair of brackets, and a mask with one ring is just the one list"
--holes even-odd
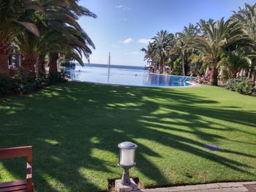
[[(89, 34), (95, 50), (91, 64), (145, 66), (140, 51), (157, 31), (175, 34), (189, 23), (213, 18), (229, 18), (233, 10), (253, 4), (252, 0), (80, 0), (79, 4), (97, 14), (97, 19), (78, 20)], [(83, 61), (87, 63), (84, 58)]]

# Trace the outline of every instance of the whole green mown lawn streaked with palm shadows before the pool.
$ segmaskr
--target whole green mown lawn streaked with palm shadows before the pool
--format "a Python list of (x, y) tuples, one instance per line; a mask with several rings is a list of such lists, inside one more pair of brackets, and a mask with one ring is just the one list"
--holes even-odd
[[(256, 180), (256, 98), (224, 88), (67, 82), (1, 99), (0, 122), (0, 147), (33, 145), (36, 191), (107, 190), (123, 141), (138, 144), (131, 176), (146, 188)], [(23, 163), (1, 161), (0, 181)]]

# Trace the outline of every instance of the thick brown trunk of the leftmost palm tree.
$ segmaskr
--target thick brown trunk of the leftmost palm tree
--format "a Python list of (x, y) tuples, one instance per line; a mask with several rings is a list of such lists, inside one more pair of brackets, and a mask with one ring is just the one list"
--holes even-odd
[(12, 38), (0, 32), (0, 74), (9, 75), (8, 59), (11, 52)]

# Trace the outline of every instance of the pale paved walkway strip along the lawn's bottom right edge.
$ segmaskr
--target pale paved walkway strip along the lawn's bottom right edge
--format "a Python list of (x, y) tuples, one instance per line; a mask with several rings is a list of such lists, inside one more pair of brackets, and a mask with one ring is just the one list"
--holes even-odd
[[(141, 189), (136, 192), (256, 192), (256, 181), (255, 182), (236, 182), (236, 183), (210, 183), (203, 185), (186, 185), (169, 188), (150, 188)], [(134, 191), (135, 192), (135, 191)]]

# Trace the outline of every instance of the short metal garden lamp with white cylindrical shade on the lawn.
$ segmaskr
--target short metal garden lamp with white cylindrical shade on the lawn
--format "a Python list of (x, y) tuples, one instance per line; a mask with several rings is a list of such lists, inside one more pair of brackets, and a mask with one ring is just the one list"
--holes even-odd
[(129, 169), (135, 166), (135, 150), (137, 145), (132, 142), (121, 142), (118, 144), (119, 147), (119, 160), (118, 166), (124, 169), (123, 176), (121, 177), (121, 184), (130, 185), (131, 180), (129, 179)]

